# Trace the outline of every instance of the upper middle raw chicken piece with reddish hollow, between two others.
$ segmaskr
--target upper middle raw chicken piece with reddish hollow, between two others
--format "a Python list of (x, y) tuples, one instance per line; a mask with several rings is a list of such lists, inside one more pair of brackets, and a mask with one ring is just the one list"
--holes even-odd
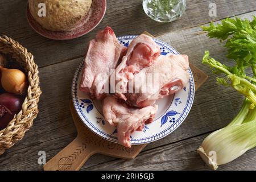
[(160, 48), (154, 40), (147, 35), (139, 35), (129, 45), (122, 62), (115, 69), (116, 96), (125, 100), (122, 93), (126, 93), (127, 82), (141, 69), (152, 65), (160, 55)]

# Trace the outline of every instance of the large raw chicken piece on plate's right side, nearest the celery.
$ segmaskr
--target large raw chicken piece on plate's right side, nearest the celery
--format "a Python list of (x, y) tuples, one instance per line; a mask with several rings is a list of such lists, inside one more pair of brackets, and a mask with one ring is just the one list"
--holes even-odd
[(130, 106), (145, 107), (159, 98), (178, 92), (187, 85), (188, 56), (159, 56), (150, 67), (144, 68), (129, 81), (129, 93), (125, 94)]

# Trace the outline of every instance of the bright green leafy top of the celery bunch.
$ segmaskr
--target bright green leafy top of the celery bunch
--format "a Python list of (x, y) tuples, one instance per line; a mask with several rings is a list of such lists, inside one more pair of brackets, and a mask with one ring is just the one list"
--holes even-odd
[(208, 32), (209, 38), (228, 39), (225, 45), (229, 52), (227, 57), (236, 61), (236, 65), (230, 68), (233, 73), (246, 77), (247, 67), (253, 67), (253, 73), (256, 73), (256, 16), (252, 21), (227, 18), (221, 24), (210, 23), (209, 27), (201, 28)]

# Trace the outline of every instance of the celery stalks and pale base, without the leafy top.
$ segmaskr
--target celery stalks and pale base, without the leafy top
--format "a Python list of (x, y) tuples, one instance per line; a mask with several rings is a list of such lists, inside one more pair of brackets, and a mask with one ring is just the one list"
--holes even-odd
[(217, 78), (218, 83), (232, 86), (246, 97), (229, 125), (214, 131), (197, 149), (205, 163), (210, 168), (217, 169), (218, 165), (229, 163), (256, 146), (256, 86), (214, 60), (209, 56), (209, 51), (205, 51), (203, 63), (209, 64), (214, 73), (225, 73), (226, 78)]

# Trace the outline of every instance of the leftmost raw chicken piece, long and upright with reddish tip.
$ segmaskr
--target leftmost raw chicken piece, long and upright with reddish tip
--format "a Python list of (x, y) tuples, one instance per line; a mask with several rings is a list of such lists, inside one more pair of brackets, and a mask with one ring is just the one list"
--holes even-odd
[(125, 55), (127, 48), (119, 44), (114, 31), (110, 27), (98, 32), (96, 39), (89, 42), (84, 60), (84, 71), (80, 82), (80, 90), (91, 94), (93, 98), (104, 96), (105, 86), (118, 60)]

